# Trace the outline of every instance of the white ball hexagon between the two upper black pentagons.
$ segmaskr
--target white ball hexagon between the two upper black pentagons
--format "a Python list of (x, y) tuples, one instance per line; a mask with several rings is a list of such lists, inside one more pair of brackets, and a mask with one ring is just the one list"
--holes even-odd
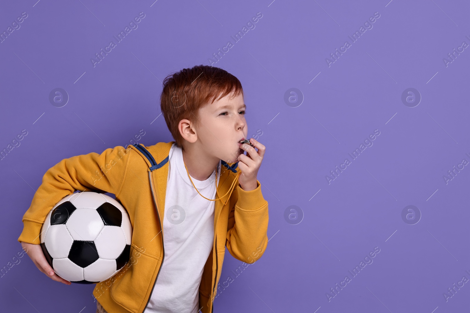
[(93, 241), (100, 233), (104, 223), (95, 209), (76, 209), (65, 225), (67, 225), (73, 239)]

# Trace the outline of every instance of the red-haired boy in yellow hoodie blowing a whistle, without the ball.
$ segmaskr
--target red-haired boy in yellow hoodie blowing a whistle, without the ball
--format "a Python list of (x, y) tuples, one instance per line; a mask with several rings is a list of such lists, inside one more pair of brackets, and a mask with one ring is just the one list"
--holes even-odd
[(175, 141), (64, 159), (47, 170), (23, 217), (18, 241), (34, 264), (70, 284), (39, 245), (47, 213), (77, 190), (113, 193), (126, 208), (130, 260), (96, 284), (96, 312), (210, 313), (225, 247), (253, 263), (267, 246), (268, 203), (257, 179), (266, 149), (253, 138), (253, 146), (239, 144), (248, 135), (240, 81), (200, 65), (167, 76), (163, 85), (161, 110)]

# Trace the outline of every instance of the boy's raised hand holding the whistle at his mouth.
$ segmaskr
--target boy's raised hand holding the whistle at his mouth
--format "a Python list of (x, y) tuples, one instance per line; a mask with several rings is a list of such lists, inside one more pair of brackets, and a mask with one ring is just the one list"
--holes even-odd
[(238, 167), (242, 170), (242, 174), (238, 177), (238, 183), (240, 183), (240, 186), (245, 191), (251, 191), (258, 187), (256, 177), (266, 151), (266, 147), (261, 145), (254, 138), (250, 139), (250, 143), (254, 145), (258, 151), (250, 145), (243, 144), (240, 147), (247, 152), (247, 155), (242, 153), (238, 156)]

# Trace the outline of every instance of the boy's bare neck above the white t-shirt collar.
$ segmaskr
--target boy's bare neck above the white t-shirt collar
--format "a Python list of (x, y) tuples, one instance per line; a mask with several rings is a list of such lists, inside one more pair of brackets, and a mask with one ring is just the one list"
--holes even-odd
[(190, 145), (186, 148), (182, 147), (181, 150), (189, 175), (199, 181), (208, 179), (220, 161), (220, 159), (206, 155), (204, 151), (199, 151), (195, 145)]

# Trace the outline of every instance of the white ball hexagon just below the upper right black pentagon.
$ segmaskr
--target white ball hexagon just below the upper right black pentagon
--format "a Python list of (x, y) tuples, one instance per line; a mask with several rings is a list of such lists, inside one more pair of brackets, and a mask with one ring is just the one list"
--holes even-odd
[(125, 248), (124, 232), (119, 226), (104, 226), (94, 244), (100, 258), (115, 260)]

